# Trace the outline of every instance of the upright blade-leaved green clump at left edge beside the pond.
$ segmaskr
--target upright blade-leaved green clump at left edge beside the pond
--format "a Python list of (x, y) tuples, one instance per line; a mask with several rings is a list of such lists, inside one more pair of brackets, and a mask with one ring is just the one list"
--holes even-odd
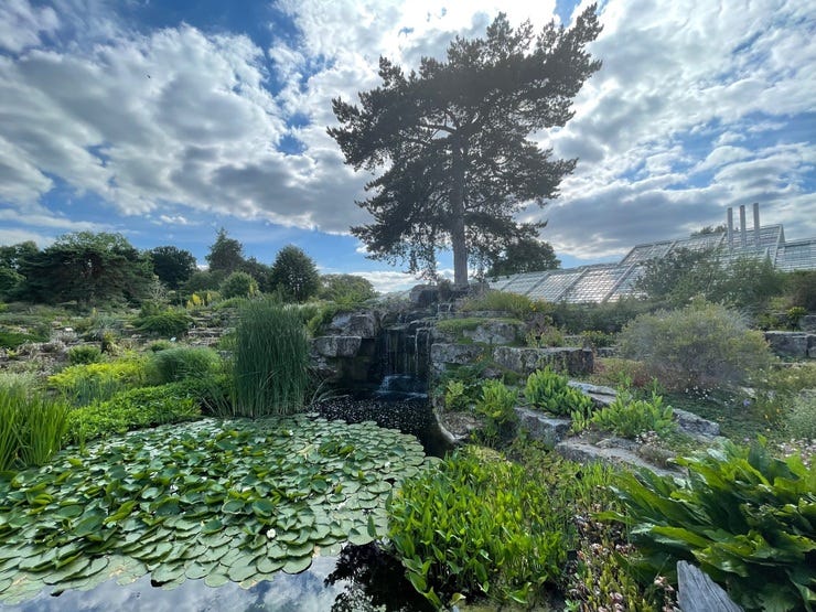
[(0, 384), (0, 472), (45, 464), (62, 447), (67, 415), (64, 402)]

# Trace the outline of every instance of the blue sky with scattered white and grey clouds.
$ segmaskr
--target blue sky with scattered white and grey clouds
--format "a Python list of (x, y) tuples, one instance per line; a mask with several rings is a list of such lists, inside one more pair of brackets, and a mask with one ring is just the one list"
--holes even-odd
[[(369, 174), (343, 164), (331, 99), (513, 24), (568, 25), (573, 0), (2, 0), (0, 244), (77, 230), (174, 245), (203, 264), (218, 227), (271, 262), (410, 284), (348, 226)], [(616, 260), (760, 202), (763, 224), (816, 236), (816, 11), (810, 0), (608, 0), (603, 61), (557, 132), (580, 159), (524, 218), (563, 265)], [(750, 215), (749, 215), (750, 218)], [(749, 222), (750, 223), (750, 222)], [(445, 259), (443, 261), (443, 267)]]

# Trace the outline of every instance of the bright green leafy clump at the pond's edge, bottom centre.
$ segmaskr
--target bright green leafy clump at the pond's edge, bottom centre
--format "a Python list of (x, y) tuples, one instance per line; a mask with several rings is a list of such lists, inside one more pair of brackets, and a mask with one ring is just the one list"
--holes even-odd
[(532, 604), (566, 561), (561, 500), (519, 465), (471, 448), (404, 481), (387, 508), (388, 536), (437, 608), (457, 594)]

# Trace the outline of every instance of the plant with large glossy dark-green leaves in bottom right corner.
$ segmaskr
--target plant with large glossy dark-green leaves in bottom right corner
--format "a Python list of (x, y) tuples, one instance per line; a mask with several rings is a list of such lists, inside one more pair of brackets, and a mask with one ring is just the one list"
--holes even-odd
[(690, 459), (684, 480), (620, 474), (615, 494), (651, 576), (680, 559), (698, 565), (748, 610), (816, 603), (816, 464), (771, 455), (763, 442), (724, 442)]

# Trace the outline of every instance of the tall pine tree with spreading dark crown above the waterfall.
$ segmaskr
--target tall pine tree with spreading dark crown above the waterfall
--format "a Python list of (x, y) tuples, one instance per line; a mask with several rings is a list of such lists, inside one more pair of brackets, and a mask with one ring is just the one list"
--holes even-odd
[(404, 74), (380, 57), (382, 86), (361, 106), (332, 100), (341, 124), (329, 133), (355, 170), (385, 167), (358, 204), (374, 223), (352, 227), (371, 257), (436, 272), (436, 249), (453, 250), (454, 284), (468, 286), (469, 255), (488, 259), (529, 236), (518, 223), (528, 203), (556, 197), (577, 160), (552, 159), (527, 137), (561, 127), (572, 99), (601, 66), (586, 51), (601, 31), (595, 7), (569, 30), (554, 23), (534, 34), (500, 14), (484, 39), (457, 37), (447, 62), (423, 57)]

